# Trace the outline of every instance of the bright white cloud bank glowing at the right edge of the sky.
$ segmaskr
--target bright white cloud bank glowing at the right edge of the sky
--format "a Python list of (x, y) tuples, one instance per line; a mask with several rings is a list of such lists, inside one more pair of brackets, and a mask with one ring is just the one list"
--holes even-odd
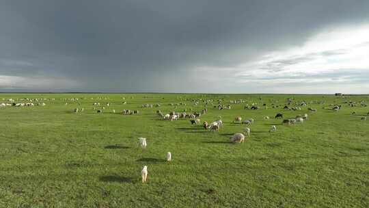
[(340, 70), (369, 72), (369, 25), (327, 29), (301, 47), (271, 51), (254, 62), (245, 63), (238, 75), (279, 77), (317, 75)]

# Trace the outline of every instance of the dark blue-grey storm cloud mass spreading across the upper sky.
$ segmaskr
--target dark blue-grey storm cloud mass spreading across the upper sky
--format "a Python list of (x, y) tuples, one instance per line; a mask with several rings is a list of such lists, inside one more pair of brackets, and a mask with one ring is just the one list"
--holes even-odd
[(323, 27), (368, 20), (366, 0), (3, 0), (0, 76), (63, 77), (84, 89), (201, 92), (206, 79), (192, 68), (236, 66), (302, 44)]

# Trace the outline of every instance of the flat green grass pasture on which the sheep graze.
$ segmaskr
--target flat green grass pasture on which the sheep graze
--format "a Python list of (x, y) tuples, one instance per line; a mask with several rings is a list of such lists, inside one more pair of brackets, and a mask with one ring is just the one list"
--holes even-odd
[[(325, 104), (309, 104), (316, 113), (307, 107), (288, 111), (282, 109), (288, 97)], [(360, 120), (369, 108), (342, 104), (340, 112), (322, 109), (368, 96), (0, 94), (0, 103), (8, 98), (55, 101), (40, 101), (44, 107), (0, 108), (0, 207), (369, 207), (369, 120)], [(79, 98), (81, 106), (64, 100), (69, 98)], [(269, 109), (208, 105), (201, 120), (221, 115), (219, 133), (193, 126), (189, 119), (170, 122), (156, 116), (157, 109), (203, 109), (204, 103), (191, 102), (200, 98), (213, 99), (214, 105), (218, 99), (226, 105), (245, 99), (267, 103)], [(281, 106), (272, 108), (271, 99)], [(111, 106), (97, 114), (94, 102)], [(143, 109), (144, 103), (161, 107)], [(74, 114), (75, 107), (85, 111)], [(140, 114), (122, 115), (122, 109)], [(309, 119), (280, 125), (277, 112), (285, 118), (308, 113)], [(233, 133), (243, 131), (243, 125), (232, 123), (236, 116), (256, 120), (243, 144), (228, 143)], [(275, 133), (268, 132), (270, 125), (277, 125)], [(138, 148), (140, 136), (148, 140), (146, 149)], [(148, 182), (142, 184), (145, 165)]]

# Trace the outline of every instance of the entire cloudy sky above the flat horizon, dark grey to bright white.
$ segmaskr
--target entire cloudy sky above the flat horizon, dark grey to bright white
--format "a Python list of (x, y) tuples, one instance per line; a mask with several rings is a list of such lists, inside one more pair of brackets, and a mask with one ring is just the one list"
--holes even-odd
[(369, 1), (1, 0), (12, 90), (369, 94)]

